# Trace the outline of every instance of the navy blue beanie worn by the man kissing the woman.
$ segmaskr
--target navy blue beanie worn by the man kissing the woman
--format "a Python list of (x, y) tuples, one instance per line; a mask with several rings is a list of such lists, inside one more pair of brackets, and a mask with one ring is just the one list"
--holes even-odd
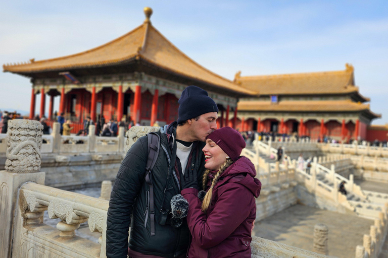
[(178, 123), (209, 112), (218, 112), (216, 102), (207, 91), (193, 85), (183, 90), (178, 103)]

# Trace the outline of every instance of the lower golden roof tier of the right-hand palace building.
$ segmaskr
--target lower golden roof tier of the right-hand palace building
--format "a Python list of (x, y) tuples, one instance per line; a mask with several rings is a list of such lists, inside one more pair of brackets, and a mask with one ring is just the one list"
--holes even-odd
[[(269, 101), (239, 101), (237, 110), (283, 112), (338, 112), (367, 110), (371, 112), (369, 110), (369, 104), (356, 103), (351, 100), (280, 101), (276, 104), (271, 104)], [(376, 115), (376, 117), (381, 116), (379, 114), (374, 115)]]

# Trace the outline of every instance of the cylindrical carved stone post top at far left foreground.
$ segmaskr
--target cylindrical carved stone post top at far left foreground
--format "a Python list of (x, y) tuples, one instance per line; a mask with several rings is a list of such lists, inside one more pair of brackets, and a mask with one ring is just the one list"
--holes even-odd
[(8, 147), (5, 168), (12, 173), (40, 170), (43, 125), (39, 121), (14, 119), (8, 122)]

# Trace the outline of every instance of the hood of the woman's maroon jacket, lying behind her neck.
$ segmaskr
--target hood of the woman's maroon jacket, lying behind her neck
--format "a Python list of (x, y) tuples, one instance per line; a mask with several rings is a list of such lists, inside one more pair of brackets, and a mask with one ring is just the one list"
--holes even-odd
[[(209, 177), (213, 179), (213, 174), (209, 173)], [(247, 157), (240, 156), (233, 164), (231, 164), (221, 175), (216, 184), (221, 185), (225, 180), (239, 183), (247, 187), (253, 195), (258, 198), (260, 195), (261, 182), (256, 176), (256, 169), (251, 160)], [(211, 181), (211, 180), (209, 180)]]

